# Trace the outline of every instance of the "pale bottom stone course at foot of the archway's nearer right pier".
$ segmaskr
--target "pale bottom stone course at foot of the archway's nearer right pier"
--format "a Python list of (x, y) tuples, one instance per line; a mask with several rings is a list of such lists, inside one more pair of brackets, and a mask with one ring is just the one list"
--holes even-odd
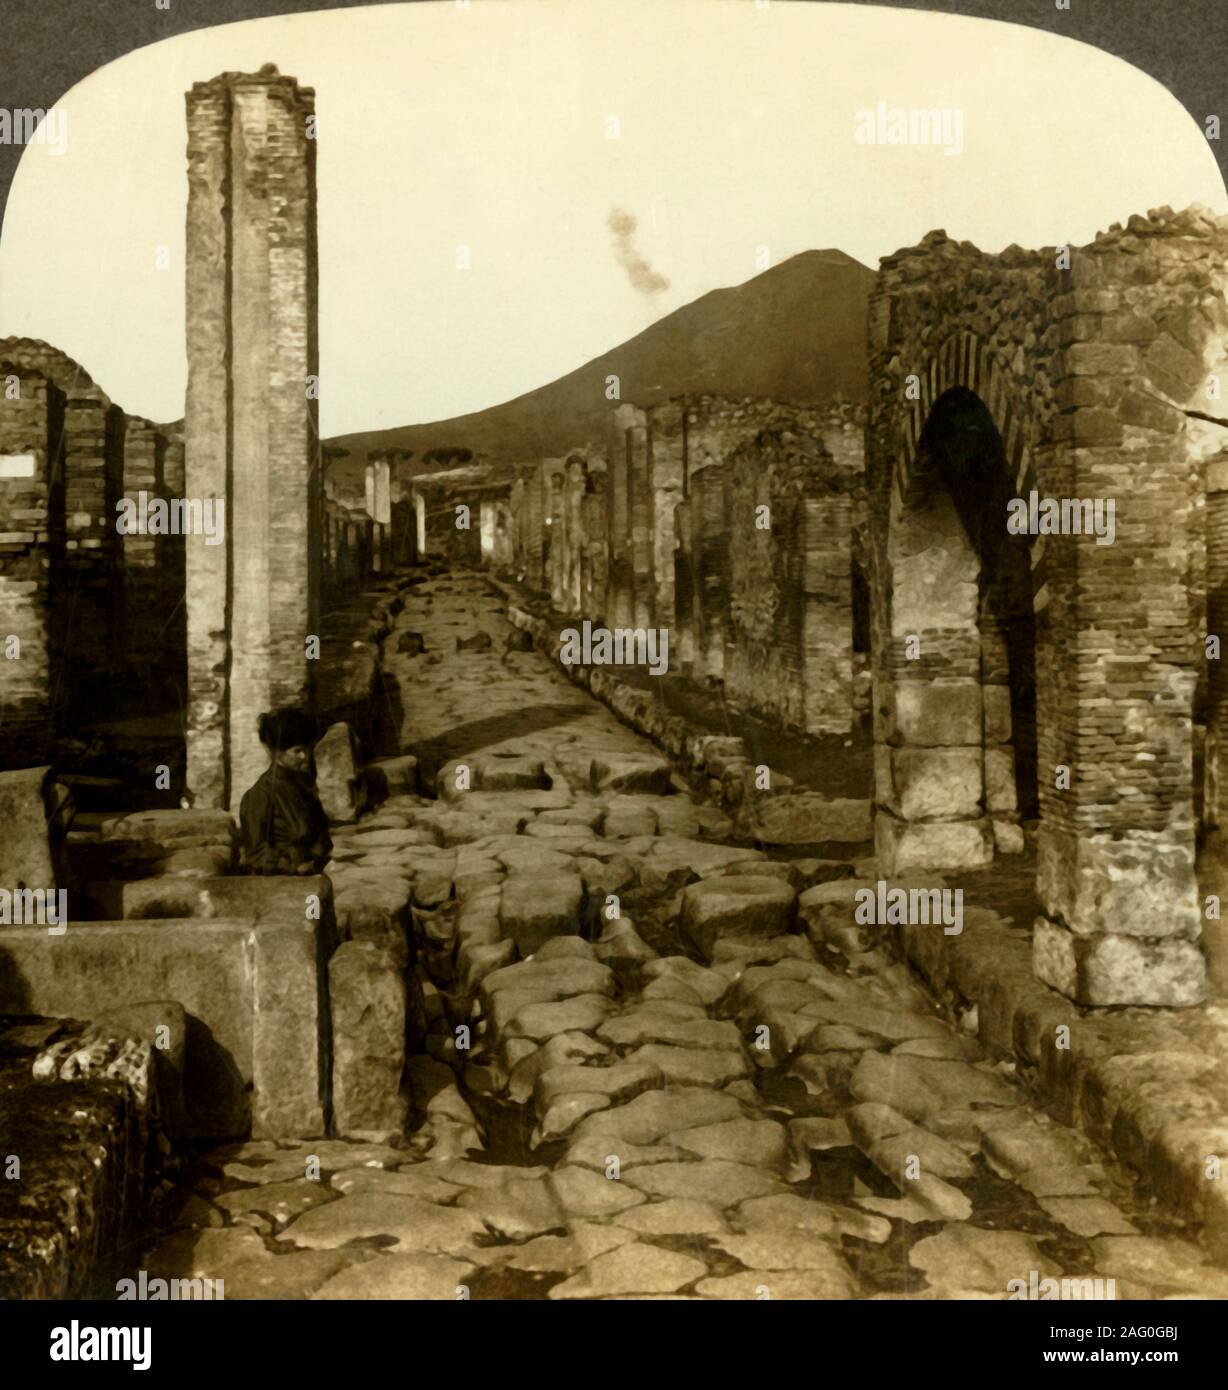
[(1202, 1004), (1207, 972), (1197, 944), (1179, 938), (1067, 931), (1037, 917), (1032, 935), (1037, 979), (1075, 1004), (1179, 1005)]

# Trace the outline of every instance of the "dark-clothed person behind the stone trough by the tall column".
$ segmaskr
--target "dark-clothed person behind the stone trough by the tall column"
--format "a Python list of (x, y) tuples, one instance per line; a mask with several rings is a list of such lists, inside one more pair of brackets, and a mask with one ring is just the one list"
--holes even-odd
[(243, 863), (249, 873), (320, 873), (332, 840), (312, 770), (314, 721), (300, 709), (280, 709), (261, 714), (257, 728), (268, 770), (239, 803)]

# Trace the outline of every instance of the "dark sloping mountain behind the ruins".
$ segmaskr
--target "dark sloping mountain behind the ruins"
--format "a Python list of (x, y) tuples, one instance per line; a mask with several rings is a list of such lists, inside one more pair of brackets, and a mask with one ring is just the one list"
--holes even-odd
[(875, 272), (844, 252), (802, 252), (733, 289), (713, 289), (594, 357), (576, 371), (499, 406), (327, 442), (349, 449), (338, 473), (360, 471), (370, 452), (413, 449), (412, 471), (434, 446), (473, 449), (491, 463), (548, 459), (599, 442), (613, 404), (652, 406), (684, 392), (772, 396), (822, 404), (866, 395), (866, 300)]

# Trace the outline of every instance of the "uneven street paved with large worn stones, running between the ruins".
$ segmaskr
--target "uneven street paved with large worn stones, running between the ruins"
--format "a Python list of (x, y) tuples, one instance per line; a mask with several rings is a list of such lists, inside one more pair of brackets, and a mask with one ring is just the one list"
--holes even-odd
[[(152, 1275), (227, 1298), (1228, 1297), (850, 924), (868, 844), (734, 842), (495, 588), (405, 592), (385, 663), (437, 796), (389, 785), (328, 867), (334, 991), (414, 962), (403, 1133), (209, 1152)], [(380, 999), (334, 1042), (370, 1066)]]

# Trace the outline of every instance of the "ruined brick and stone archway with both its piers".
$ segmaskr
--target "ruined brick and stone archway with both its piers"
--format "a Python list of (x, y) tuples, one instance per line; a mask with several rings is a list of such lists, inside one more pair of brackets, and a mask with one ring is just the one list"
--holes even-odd
[[(935, 232), (883, 261), (871, 300), (879, 849), (907, 872), (985, 863), (996, 841), (1015, 844), (1005, 706), (1026, 713), (1017, 696), (1031, 676), (1036, 969), (1079, 1002), (1203, 992), (1192, 723), (1203, 464), (1224, 442), (1204, 418), (1225, 366), (1224, 249), (1225, 229), (1197, 210), (997, 257)], [(1008, 542), (1001, 503), (1033, 489), (1114, 500), (1113, 543)], [(983, 631), (982, 591), (997, 637)], [(901, 660), (910, 637), (919, 660)], [(1035, 676), (1010, 669), (1029, 644)], [(1004, 688), (1011, 701), (987, 699)], [(1015, 730), (1017, 769), (1021, 742)]]

